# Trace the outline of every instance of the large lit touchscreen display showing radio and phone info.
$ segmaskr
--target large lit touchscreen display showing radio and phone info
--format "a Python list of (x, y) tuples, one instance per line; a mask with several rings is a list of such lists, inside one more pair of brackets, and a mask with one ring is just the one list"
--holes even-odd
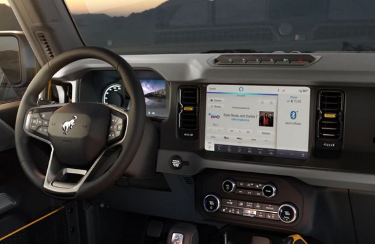
[(207, 151), (307, 159), (310, 88), (208, 85)]

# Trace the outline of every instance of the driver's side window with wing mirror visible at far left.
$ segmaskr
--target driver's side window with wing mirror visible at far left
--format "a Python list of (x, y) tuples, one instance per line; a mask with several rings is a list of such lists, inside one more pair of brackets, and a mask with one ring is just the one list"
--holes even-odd
[(30, 46), (7, 0), (0, 0), (0, 103), (20, 99), (35, 72)]

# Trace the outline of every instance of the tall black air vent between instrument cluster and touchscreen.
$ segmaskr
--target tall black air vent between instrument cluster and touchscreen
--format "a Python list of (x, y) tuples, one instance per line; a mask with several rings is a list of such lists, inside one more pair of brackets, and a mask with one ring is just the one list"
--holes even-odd
[(179, 136), (184, 139), (198, 138), (199, 89), (196, 86), (180, 87), (179, 91)]

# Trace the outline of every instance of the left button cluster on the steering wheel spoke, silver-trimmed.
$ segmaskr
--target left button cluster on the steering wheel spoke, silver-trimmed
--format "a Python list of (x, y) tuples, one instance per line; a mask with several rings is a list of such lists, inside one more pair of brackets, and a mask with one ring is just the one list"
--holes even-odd
[(50, 118), (58, 108), (64, 104), (51, 104), (32, 107), (27, 111), (24, 120), (24, 131), (29, 135), (43, 142), (49, 142), (48, 127)]

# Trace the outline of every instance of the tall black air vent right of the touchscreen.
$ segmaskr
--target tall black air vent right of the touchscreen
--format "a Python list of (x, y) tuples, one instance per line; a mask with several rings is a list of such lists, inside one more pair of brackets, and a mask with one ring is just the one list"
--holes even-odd
[(318, 94), (317, 133), (319, 147), (341, 149), (344, 121), (344, 92), (322, 90)]

